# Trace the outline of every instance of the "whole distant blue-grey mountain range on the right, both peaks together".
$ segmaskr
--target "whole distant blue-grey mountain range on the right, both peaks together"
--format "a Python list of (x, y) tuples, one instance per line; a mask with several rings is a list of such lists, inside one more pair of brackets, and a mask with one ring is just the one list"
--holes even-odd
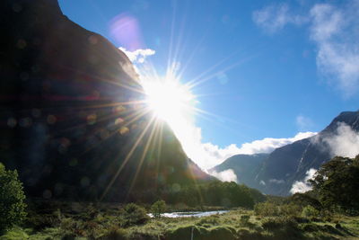
[[(211, 171), (232, 169), (238, 182), (251, 188), (266, 194), (289, 195), (294, 182), (303, 182), (311, 168), (319, 169), (321, 164), (339, 154), (333, 148), (346, 147), (346, 138), (351, 138), (355, 132), (359, 132), (359, 111), (344, 111), (311, 138), (276, 148), (268, 155), (232, 156)], [(359, 142), (356, 149), (359, 149)]]

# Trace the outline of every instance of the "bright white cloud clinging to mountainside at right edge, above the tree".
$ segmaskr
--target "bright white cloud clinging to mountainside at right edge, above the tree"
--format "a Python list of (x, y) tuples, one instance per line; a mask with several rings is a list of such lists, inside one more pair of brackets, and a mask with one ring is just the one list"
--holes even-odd
[(344, 122), (339, 122), (334, 136), (323, 139), (332, 156), (355, 157), (359, 155), (359, 133)]

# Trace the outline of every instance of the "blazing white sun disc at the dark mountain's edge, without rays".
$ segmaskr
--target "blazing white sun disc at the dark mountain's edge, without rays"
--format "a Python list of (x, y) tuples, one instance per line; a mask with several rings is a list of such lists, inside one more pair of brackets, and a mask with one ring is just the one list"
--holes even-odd
[(143, 83), (148, 107), (155, 117), (165, 120), (173, 130), (183, 128), (193, 118), (196, 96), (187, 84), (173, 76), (147, 79)]

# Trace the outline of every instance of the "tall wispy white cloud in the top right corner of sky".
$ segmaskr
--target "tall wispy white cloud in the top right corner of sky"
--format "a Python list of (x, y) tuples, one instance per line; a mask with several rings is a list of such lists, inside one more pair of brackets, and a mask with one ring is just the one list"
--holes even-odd
[(311, 40), (318, 48), (317, 66), (324, 76), (350, 96), (359, 90), (359, 1), (338, 8), (311, 8)]

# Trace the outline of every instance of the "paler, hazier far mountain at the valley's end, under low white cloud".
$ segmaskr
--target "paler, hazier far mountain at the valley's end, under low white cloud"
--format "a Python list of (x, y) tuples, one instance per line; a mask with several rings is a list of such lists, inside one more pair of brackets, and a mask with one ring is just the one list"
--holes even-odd
[(222, 164), (216, 165), (209, 173), (220, 173), (232, 169), (237, 175), (237, 182), (248, 186), (256, 186), (254, 177), (258, 173), (260, 164), (267, 159), (269, 154), (235, 155), (226, 159)]

